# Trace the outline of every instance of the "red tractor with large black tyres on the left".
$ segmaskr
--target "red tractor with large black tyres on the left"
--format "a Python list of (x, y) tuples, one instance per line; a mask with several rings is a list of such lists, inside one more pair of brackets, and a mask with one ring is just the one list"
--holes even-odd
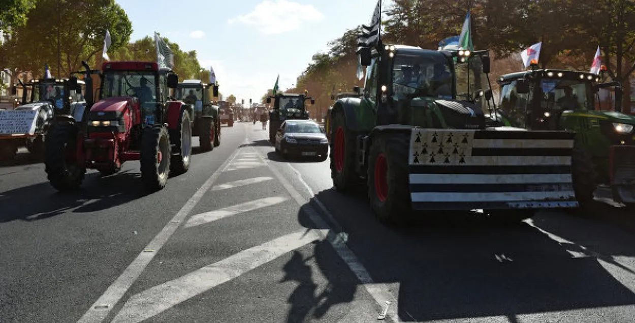
[[(168, 172), (187, 172), (191, 111), (187, 104), (168, 99), (169, 89), (178, 86), (177, 74), (159, 70), (155, 62), (105, 62), (101, 72), (82, 64), (86, 69), (82, 121), (58, 115), (46, 138), (44, 164), (51, 185), (59, 191), (74, 189), (86, 168), (110, 175), (130, 160), (140, 161), (141, 179), (150, 191), (166, 185)], [(101, 80), (97, 102), (93, 74)], [(69, 81), (75, 86), (77, 77)]]

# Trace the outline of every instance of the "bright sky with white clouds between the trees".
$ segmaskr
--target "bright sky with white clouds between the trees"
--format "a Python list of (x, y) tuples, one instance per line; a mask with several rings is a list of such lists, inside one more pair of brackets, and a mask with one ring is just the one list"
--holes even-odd
[[(280, 75), (282, 90), (326, 43), (370, 24), (377, 0), (116, 0), (133, 27), (131, 41), (161, 33), (201, 65), (220, 92), (258, 102)], [(389, 3), (389, 1), (384, 1)], [(384, 4), (384, 8), (385, 8)], [(170, 18), (170, 14), (173, 15)]]

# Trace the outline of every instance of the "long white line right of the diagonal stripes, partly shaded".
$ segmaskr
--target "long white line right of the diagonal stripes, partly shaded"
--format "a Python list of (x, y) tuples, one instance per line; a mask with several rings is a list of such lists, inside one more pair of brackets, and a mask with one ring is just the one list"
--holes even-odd
[[(254, 148), (252, 147), (251, 149), (254, 149)], [(307, 202), (310, 202), (309, 200), (303, 198), (302, 195), (300, 195), (300, 193), (298, 193), (298, 191), (295, 188), (293, 188), (293, 186), (291, 186), (291, 183), (287, 181), (286, 178), (284, 178), (284, 176), (281, 174), (281, 172), (279, 172), (279, 170), (277, 170), (270, 163), (267, 163), (265, 161), (265, 158), (262, 155), (260, 155), (260, 158), (263, 160), (263, 162), (267, 164), (267, 167), (271, 169), (271, 172), (274, 173), (274, 175), (276, 176), (276, 179), (279, 182), (281, 182), (284, 188), (293, 197), (295, 202), (297, 202), (300, 206), (307, 204)], [(300, 172), (298, 172), (297, 169), (293, 168), (293, 166), (289, 165), (289, 167), (295, 170), (297, 174), (300, 174)], [(309, 187), (307, 183), (304, 182), (301, 176), (300, 176), (300, 181), (303, 182), (303, 184), (305, 185), (305, 188), (309, 191), (309, 194), (313, 196), (313, 200), (317, 202), (318, 205), (320, 205), (321, 209), (323, 209), (324, 214), (327, 214), (327, 217), (330, 219), (331, 223), (333, 223), (333, 225), (336, 226), (337, 228), (342, 228), (342, 226), (338, 224), (337, 221), (335, 221), (335, 217), (333, 217), (333, 215), (326, 209), (326, 207), (323, 207), (324, 205), (322, 205), (322, 203), (319, 202), (318, 198), (315, 196), (315, 193), (313, 193), (313, 190), (311, 189), (311, 187)], [(399, 315), (397, 313), (397, 308), (398, 308), (397, 299), (395, 299), (394, 296), (392, 296), (391, 292), (389, 292), (389, 287), (385, 284), (375, 283), (373, 281), (373, 278), (370, 276), (370, 273), (368, 273), (368, 270), (366, 270), (364, 265), (362, 265), (362, 263), (359, 261), (357, 256), (354, 254), (354, 252), (352, 252), (351, 249), (349, 249), (349, 247), (346, 244), (338, 242), (339, 235), (336, 233), (336, 231), (330, 228), (328, 223), (326, 223), (326, 221), (322, 219), (322, 217), (310, 204), (307, 205), (305, 210), (307, 212), (307, 215), (309, 216), (309, 219), (311, 219), (311, 221), (314, 224), (316, 224), (318, 228), (328, 229), (327, 231), (328, 235), (326, 235), (326, 239), (331, 244), (333, 249), (335, 249), (335, 252), (337, 252), (340, 258), (342, 258), (342, 260), (346, 263), (346, 265), (349, 266), (351, 271), (358, 277), (358, 279), (361, 281), (362, 285), (364, 286), (364, 289), (366, 289), (366, 291), (373, 297), (373, 299), (375, 299), (375, 302), (377, 302), (377, 306), (379, 308), (384, 308), (386, 301), (390, 301), (392, 305), (390, 306), (388, 312), (386, 313), (386, 316), (389, 317), (392, 320), (392, 322), (395, 322), (395, 323), (403, 322), (401, 319), (399, 319)]]

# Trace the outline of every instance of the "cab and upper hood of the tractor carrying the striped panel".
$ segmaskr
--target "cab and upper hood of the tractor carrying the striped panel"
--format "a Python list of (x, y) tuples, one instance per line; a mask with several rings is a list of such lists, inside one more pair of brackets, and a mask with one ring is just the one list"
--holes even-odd
[(487, 51), (424, 50), (385, 45), (362, 53), (368, 65), (364, 101), (377, 125), (484, 129), (490, 57)]

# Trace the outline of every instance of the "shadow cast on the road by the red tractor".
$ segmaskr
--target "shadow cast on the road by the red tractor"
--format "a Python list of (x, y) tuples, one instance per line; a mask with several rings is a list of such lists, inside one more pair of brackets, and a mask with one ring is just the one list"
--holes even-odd
[(5, 191), (0, 196), (0, 223), (37, 221), (68, 212), (95, 212), (128, 203), (148, 194), (139, 177), (133, 172), (108, 177), (91, 173), (86, 174), (77, 191), (60, 193), (48, 182)]

